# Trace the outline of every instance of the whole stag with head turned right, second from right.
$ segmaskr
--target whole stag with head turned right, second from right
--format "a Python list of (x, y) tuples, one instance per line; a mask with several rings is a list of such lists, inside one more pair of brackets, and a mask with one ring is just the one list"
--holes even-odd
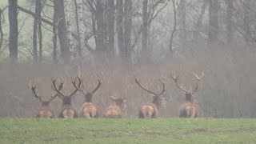
[(153, 101), (150, 104), (141, 107), (138, 113), (138, 118), (158, 118), (159, 107), (166, 105), (166, 98), (162, 97), (162, 94), (165, 92), (165, 83), (162, 82), (161, 79), (159, 79), (159, 81), (162, 83), (162, 91), (159, 94), (156, 94), (143, 87), (135, 78), (135, 82), (142, 88), (142, 90), (146, 90), (154, 95)]

